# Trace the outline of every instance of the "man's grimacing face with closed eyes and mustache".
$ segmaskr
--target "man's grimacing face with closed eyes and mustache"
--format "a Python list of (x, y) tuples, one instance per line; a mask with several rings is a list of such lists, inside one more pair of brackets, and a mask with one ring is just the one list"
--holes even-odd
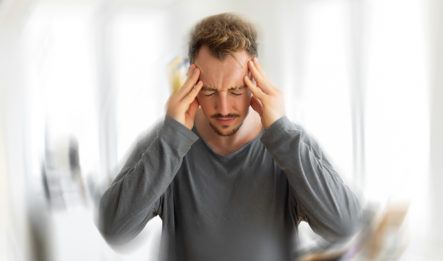
[(200, 68), (203, 88), (197, 95), (203, 113), (212, 129), (221, 136), (237, 132), (248, 115), (251, 92), (243, 78), (248, 75), (250, 56), (245, 50), (228, 55), (223, 61), (203, 46), (195, 65)]

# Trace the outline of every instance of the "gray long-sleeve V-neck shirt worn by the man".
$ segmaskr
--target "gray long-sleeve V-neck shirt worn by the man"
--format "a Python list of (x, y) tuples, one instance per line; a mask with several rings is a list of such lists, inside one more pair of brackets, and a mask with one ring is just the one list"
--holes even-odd
[(99, 228), (111, 244), (163, 221), (165, 260), (289, 260), (301, 219), (326, 239), (351, 235), (361, 217), (317, 143), (286, 117), (220, 155), (166, 116), (137, 143), (103, 195)]

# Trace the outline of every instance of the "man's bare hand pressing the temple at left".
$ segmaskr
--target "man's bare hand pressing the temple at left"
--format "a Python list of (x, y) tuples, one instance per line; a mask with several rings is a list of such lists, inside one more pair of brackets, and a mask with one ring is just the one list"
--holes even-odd
[(198, 80), (200, 69), (192, 64), (187, 73), (185, 83), (169, 97), (166, 103), (166, 114), (192, 129), (194, 116), (198, 109), (197, 94), (203, 87), (203, 82)]

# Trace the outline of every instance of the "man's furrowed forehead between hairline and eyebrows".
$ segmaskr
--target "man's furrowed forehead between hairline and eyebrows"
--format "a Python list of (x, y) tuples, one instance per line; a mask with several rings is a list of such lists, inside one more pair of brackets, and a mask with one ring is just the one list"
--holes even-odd
[(243, 77), (248, 74), (249, 59), (249, 54), (241, 50), (219, 60), (203, 46), (195, 59), (195, 65), (200, 68), (200, 79), (205, 86), (225, 90), (244, 85)]

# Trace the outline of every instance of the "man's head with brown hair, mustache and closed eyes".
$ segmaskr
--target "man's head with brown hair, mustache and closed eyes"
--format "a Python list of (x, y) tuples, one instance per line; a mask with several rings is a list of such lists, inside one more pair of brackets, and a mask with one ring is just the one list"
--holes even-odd
[(251, 93), (243, 78), (253, 56), (257, 56), (256, 30), (236, 15), (207, 17), (191, 32), (189, 58), (200, 68), (204, 83), (197, 99), (219, 135), (235, 134), (248, 114)]

